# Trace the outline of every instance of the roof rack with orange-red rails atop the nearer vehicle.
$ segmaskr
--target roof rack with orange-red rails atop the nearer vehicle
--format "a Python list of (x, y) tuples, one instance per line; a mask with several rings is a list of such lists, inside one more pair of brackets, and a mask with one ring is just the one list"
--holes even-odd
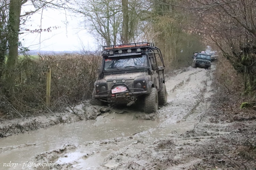
[(113, 50), (120, 48), (140, 48), (140, 47), (154, 47), (154, 43), (152, 42), (137, 42), (130, 44), (120, 44), (120, 45), (111, 45), (111, 46), (103, 46), (103, 50)]

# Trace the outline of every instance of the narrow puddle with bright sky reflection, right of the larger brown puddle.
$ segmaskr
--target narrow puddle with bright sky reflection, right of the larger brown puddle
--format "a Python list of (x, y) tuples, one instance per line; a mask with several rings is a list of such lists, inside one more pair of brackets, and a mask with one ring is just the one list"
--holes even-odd
[[(73, 167), (76, 169), (83, 168), (83, 169), (95, 169), (100, 164), (104, 163), (106, 157), (108, 157), (111, 153), (118, 152), (118, 150), (125, 150), (124, 148), (128, 148), (130, 144), (138, 144), (140, 141), (144, 141), (145, 145), (156, 140), (156, 138), (161, 137), (175, 137), (177, 133), (183, 133), (188, 130), (192, 130), (194, 128), (195, 122), (179, 122), (176, 124), (165, 126), (164, 128), (151, 128), (140, 133), (137, 133), (132, 136), (131, 140), (128, 141), (120, 141), (110, 144), (98, 145), (98, 144), (91, 144), (88, 146), (81, 145), (79, 149), (75, 152), (71, 152), (67, 155), (67, 158), (62, 157), (57, 160), (56, 163), (59, 164), (72, 164)], [(89, 156), (85, 156), (89, 153)], [(92, 154), (93, 153), (93, 154)], [(120, 152), (121, 153), (121, 152)], [(136, 155), (138, 153), (137, 150), (129, 150), (126, 151), (125, 154), (128, 155)], [(90, 155), (92, 154), (92, 155)], [(119, 155), (119, 159), (123, 157)], [(104, 164), (105, 167), (111, 168), (118, 166), (118, 162), (113, 160), (113, 162), (109, 162), (108, 164)]]

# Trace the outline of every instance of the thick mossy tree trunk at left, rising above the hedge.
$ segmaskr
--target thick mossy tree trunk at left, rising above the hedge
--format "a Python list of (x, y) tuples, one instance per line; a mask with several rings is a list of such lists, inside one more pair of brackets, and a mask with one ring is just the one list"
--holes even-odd
[(21, 0), (10, 0), (9, 11), (9, 54), (7, 58), (6, 67), (8, 71), (13, 71), (16, 66), (18, 58), (18, 44), (20, 31), (20, 11)]

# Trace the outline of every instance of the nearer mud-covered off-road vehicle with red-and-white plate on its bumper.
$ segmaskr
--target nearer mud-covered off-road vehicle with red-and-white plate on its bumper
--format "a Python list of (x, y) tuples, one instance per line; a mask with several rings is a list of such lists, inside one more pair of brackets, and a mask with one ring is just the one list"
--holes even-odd
[(104, 46), (92, 99), (131, 106), (141, 102), (145, 113), (167, 103), (164, 60), (153, 43)]

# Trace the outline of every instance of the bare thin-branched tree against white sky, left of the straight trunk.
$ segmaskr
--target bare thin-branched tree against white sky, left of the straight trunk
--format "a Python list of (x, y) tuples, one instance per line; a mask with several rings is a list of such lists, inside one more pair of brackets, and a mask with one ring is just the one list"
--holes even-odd
[(84, 26), (106, 45), (116, 44), (120, 33), (122, 9), (117, 0), (86, 0), (77, 5), (84, 15)]

